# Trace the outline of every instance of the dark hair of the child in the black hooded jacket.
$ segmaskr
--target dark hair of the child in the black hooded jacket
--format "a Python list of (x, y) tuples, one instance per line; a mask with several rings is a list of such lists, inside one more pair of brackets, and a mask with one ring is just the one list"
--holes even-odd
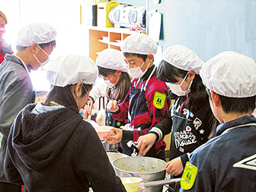
[[(86, 91), (91, 91), (92, 85), (84, 84)], [(51, 101), (56, 102), (57, 104), (63, 105), (65, 107), (74, 110), (75, 112), (79, 112), (78, 106), (76, 104), (75, 98), (73, 97), (71, 91), (72, 85), (66, 85), (65, 87), (53, 86), (50, 92), (46, 96), (46, 100), (44, 101), (44, 105), (50, 106)], [(84, 96), (87, 92), (85, 88), (82, 88), (82, 96)]]

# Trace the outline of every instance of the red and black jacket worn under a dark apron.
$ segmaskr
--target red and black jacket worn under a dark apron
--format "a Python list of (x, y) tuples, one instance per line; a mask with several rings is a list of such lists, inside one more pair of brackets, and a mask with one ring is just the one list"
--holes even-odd
[[(154, 69), (152, 66), (142, 78), (140, 78), (138, 82), (138, 78), (134, 79), (132, 82), (132, 87), (142, 88), (143, 85), (146, 84), (147, 78), (149, 74)], [(163, 107), (159, 109), (159, 107), (155, 107), (154, 99), (155, 96), (159, 94), (164, 94), (165, 96), (168, 94), (168, 88), (165, 85), (165, 82), (162, 82), (155, 77), (156, 72), (153, 73), (152, 78), (149, 79), (149, 82), (146, 86), (145, 91), (145, 99), (148, 107), (148, 112), (146, 114), (139, 114), (136, 117), (133, 117), (130, 120), (130, 126), (133, 128), (133, 134), (130, 131), (123, 130), (123, 140), (130, 139), (133, 142), (139, 139), (139, 136), (146, 135), (152, 126), (158, 124), (165, 117), (165, 114), (168, 112), (170, 102), (167, 98), (165, 98), (165, 104)], [(128, 116), (128, 111), (130, 107), (130, 91), (128, 92), (125, 100), (119, 104), (120, 109), (112, 114), (112, 116), (116, 120), (125, 120)], [(139, 126), (137, 126), (139, 125)], [(155, 143), (155, 152), (158, 154), (163, 149), (165, 149), (164, 139)]]

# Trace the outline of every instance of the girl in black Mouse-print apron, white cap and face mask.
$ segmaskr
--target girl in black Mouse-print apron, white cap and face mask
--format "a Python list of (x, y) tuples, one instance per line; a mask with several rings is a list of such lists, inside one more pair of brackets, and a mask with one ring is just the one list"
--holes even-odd
[[(189, 153), (205, 143), (214, 124), (206, 88), (199, 71), (203, 61), (186, 46), (169, 46), (158, 67), (157, 77), (168, 85), (174, 104), (165, 120), (154, 126), (149, 134), (139, 138), (139, 155), (158, 139), (171, 132), (171, 147), (166, 171), (181, 177)], [(213, 133), (215, 129), (213, 129)], [(147, 148), (146, 148), (147, 147)], [(176, 187), (175, 191), (179, 187)]]

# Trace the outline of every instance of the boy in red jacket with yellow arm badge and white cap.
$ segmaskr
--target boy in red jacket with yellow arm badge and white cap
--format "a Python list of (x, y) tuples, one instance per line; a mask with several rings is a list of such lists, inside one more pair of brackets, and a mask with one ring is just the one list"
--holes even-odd
[[(149, 132), (168, 111), (166, 98), (168, 89), (164, 82), (156, 79), (156, 66), (153, 64), (157, 44), (146, 34), (133, 34), (123, 41), (123, 56), (133, 76), (132, 86), (126, 99), (121, 103), (109, 102), (108, 109), (117, 120), (130, 118), (130, 125), (123, 130), (114, 129), (116, 135), (107, 136), (107, 142), (120, 142), (129, 155), (138, 155), (136, 141)], [(125, 130), (128, 127), (128, 130)], [(159, 140), (146, 154), (165, 159), (165, 142)]]

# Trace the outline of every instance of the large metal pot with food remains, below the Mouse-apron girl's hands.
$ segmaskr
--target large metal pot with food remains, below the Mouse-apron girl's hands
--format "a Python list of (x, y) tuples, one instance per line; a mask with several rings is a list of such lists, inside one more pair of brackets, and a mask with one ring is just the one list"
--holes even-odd
[[(144, 183), (165, 179), (165, 165), (161, 159), (150, 157), (123, 157), (112, 162), (120, 178), (139, 177)], [(162, 192), (162, 186), (146, 187), (145, 192)]]

